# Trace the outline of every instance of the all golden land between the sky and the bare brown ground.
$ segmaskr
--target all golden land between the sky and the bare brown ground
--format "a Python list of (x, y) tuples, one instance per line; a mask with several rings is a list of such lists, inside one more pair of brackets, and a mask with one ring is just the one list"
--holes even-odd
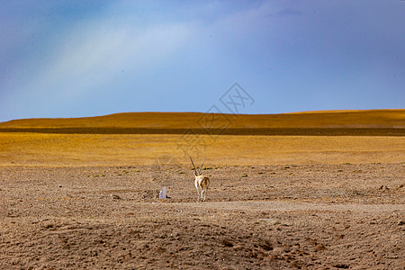
[(401, 163), (404, 153), (405, 110), (133, 112), (0, 123), (0, 166), (155, 164), (167, 156), (181, 164), (208, 157), (211, 165)]

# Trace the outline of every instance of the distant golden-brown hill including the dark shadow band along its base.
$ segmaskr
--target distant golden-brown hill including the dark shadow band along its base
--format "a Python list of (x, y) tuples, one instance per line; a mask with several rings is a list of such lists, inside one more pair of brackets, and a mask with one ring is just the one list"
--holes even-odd
[(0, 131), (44, 133), (228, 135), (405, 135), (405, 110), (219, 114), (125, 112), (84, 118), (23, 119)]

